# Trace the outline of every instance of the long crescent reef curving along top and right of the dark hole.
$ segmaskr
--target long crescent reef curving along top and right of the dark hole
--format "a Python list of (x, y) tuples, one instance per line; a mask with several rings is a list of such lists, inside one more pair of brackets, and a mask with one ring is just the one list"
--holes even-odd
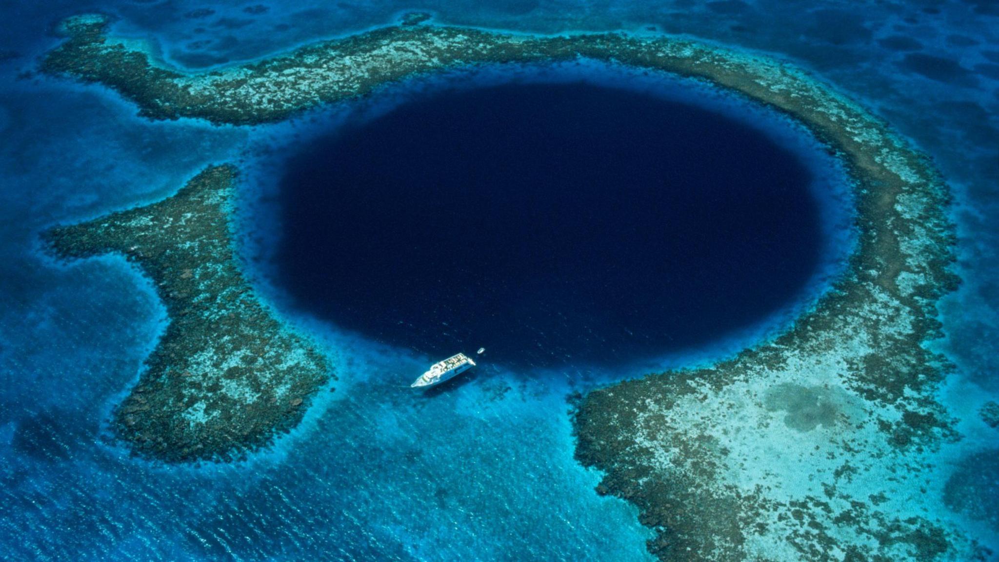
[(958, 279), (948, 189), (925, 156), (859, 105), (767, 57), (663, 36), (515, 35), (421, 21), (189, 73), (107, 35), (107, 18), (80, 16), (61, 26), (67, 39), (42, 70), (104, 84), (152, 119), (231, 125), (281, 121), (461, 65), (579, 58), (701, 79), (785, 113), (853, 181), (856, 246), (845, 272), (784, 333), (732, 359), (579, 397), (576, 458), (603, 472), (598, 492), (638, 507), (656, 532), (649, 551), (662, 560), (990, 555), (939, 500), (945, 474), (933, 454), (960, 436), (936, 397), (951, 365), (925, 344), (940, 337), (935, 303)]

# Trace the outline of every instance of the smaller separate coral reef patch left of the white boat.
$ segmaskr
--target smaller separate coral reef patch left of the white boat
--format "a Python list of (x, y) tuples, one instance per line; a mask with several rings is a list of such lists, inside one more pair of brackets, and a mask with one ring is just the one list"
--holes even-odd
[(45, 234), (59, 256), (119, 253), (156, 286), (170, 323), (115, 409), (119, 436), (168, 462), (228, 460), (301, 420), (330, 379), (307, 340), (261, 305), (229, 232), (234, 169), (216, 166), (176, 195)]

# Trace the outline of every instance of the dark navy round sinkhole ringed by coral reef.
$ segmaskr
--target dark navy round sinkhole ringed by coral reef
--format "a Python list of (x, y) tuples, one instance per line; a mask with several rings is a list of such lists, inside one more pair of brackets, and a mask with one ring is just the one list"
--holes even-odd
[(798, 296), (822, 253), (812, 179), (755, 128), (646, 93), (439, 93), (292, 158), (279, 282), (320, 317), (434, 357), (651, 358)]

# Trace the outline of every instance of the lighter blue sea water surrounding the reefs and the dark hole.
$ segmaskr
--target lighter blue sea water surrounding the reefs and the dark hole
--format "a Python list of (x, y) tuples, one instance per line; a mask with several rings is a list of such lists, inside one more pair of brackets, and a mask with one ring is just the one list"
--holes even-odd
[[(266, 9), (247, 9), (256, 5)], [(526, 31), (652, 25), (774, 53), (860, 99), (929, 153), (955, 191), (964, 284), (942, 303), (948, 338), (934, 344), (958, 368), (944, 399), (971, 416), (963, 406), (968, 396), (977, 401), (999, 393), (994, 3), (5, 2), (0, 559), (648, 559), (643, 541), (649, 535), (635, 510), (596, 496), (599, 475), (572, 460), (564, 396), (646, 368), (730, 354), (786, 321), (835, 270), (835, 248), (848, 244), (826, 231), (842, 221), (830, 211), (844, 204), (841, 198), (820, 196), (834, 185), (812, 195), (821, 239), (833, 243), (795, 247), (818, 256), (809, 270), (813, 277), (797, 293), (786, 293), (793, 302), (749, 315), (751, 325), (693, 347), (664, 349), (663, 357), (641, 365), (551, 369), (543, 359), (531, 368), (488, 362), (463, 384), (428, 399), (400, 387), (426, 368), (436, 349), (417, 340), (371, 337), (363, 326), (344, 330), (304, 312), (275, 267), (285, 166), (304, 145), (351, 122), (353, 110), (249, 130), (189, 120), (150, 123), (101, 88), (18, 78), (56, 43), (51, 26), (80, 11), (118, 15), (122, 32), (154, 38), (168, 60), (204, 67), (380, 25), (407, 9), (431, 9), (446, 22)], [(619, 77), (613, 69), (573, 72), (596, 82)], [(738, 114), (782, 150), (804, 155), (802, 165), (824, 165), (817, 157), (808, 164), (814, 147), (807, 138), (765, 111), (743, 111), (737, 100), (703, 91), (683, 99), (675, 91), (694, 86), (652, 82), (642, 87), (680, 96), (672, 103), (695, 99), (714, 112)], [(438, 87), (404, 85), (367, 110), (381, 115), (402, 103), (399, 98), (408, 100), (405, 92)], [(222, 161), (247, 170), (240, 233), (249, 271), (286, 320), (336, 352), (341, 380), (300, 429), (247, 463), (156, 466), (130, 458), (108, 440), (104, 425), (165, 322), (152, 287), (122, 259), (53, 264), (39, 250), (38, 233), (163, 198), (203, 166)], [(467, 351), (478, 345), (492, 350), (484, 341), (470, 342)], [(537, 376), (540, 369), (550, 376)], [(995, 455), (970, 456), (995, 447), (994, 436), (974, 434), (941, 462), (996, 462)], [(979, 501), (994, 505), (988, 488), (981, 489)]]

